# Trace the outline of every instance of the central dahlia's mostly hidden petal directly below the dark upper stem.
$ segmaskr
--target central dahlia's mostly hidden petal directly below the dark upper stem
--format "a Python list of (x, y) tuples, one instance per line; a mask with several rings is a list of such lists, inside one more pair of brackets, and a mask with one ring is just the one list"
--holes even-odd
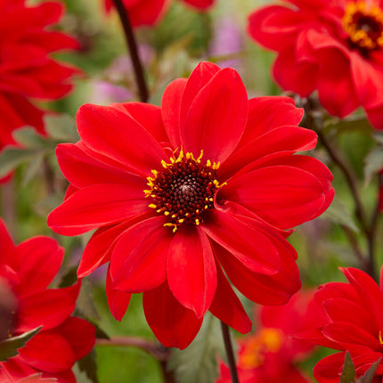
[(158, 143), (167, 143), (167, 132), (162, 122), (161, 108), (144, 102), (125, 102), (111, 106), (125, 110), (143, 126)]

